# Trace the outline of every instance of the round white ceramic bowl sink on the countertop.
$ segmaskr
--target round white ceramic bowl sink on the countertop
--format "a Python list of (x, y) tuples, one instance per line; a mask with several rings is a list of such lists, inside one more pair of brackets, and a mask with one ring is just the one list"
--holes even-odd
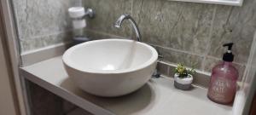
[(63, 63), (80, 89), (92, 95), (119, 96), (148, 82), (157, 57), (156, 50), (146, 43), (104, 39), (67, 49)]

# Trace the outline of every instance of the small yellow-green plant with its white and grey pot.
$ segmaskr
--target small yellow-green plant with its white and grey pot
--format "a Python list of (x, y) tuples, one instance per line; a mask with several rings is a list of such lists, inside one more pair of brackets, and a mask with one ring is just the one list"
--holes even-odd
[(195, 69), (187, 69), (183, 64), (177, 64), (174, 74), (174, 86), (177, 89), (188, 90), (193, 82)]

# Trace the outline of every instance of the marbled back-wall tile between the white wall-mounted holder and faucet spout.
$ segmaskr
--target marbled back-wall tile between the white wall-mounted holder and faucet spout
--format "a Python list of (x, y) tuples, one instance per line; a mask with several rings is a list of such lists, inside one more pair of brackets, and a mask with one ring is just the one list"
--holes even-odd
[(128, 21), (124, 21), (121, 28), (113, 26), (121, 14), (131, 14), (131, 0), (84, 0), (84, 6), (96, 10), (96, 17), (87, 20), (87, 29), (122, 37), (131, 36)]

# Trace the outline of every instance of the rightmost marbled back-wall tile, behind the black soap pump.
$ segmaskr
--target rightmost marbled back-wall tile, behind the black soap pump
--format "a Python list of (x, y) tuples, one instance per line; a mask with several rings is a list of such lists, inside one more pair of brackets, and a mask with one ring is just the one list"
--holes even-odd
[(256, 1), (244, 0), (242, 7), (217, 6), (209, 55), (222, 58), (224, 43), (234, 42), (235, 61), (245, 64), (256, 30)]

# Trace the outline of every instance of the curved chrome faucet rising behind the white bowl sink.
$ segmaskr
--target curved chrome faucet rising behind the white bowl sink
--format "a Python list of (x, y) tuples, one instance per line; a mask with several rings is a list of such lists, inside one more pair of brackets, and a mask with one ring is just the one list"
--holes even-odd
[(123, 20), (130, 20), (131, 26), (133, 27), (133, 29), (134, 29), (134, 31), (136, 33), (137, 41), (141, 42), (142, 41), (141, 40), (141, 38), (142, 38), (141, 33), (140, 33), (140, 31), (139, 31), (139, 29), (137, 27), (137, 23), (135, 22), (135, 20), (133, 20), (131, 18), (131, 15), (129, 15), (129, 14), (122, 14), (119, 17), (119, 19), (115, 22), (114, 26), (117, 27), (117, 28), (120, 28)]

